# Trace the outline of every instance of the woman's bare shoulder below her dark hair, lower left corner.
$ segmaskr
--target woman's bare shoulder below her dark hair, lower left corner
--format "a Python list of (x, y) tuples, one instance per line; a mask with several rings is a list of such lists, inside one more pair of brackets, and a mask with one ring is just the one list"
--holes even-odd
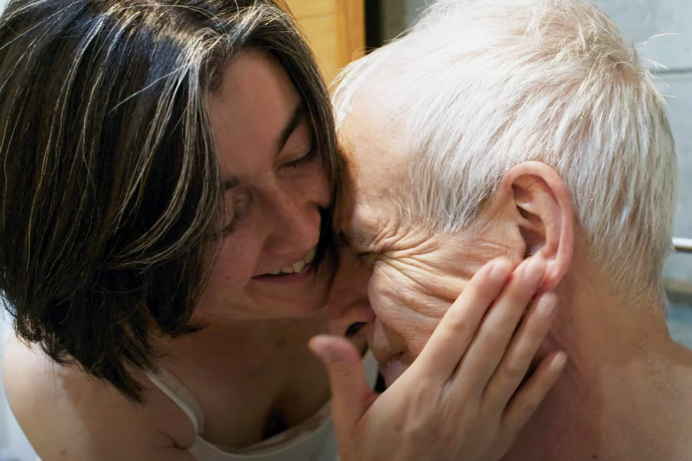
[(43, 461), (192, 461), (152, 425), (146, 406), (14, 336), (2, 368), (13, 413)]

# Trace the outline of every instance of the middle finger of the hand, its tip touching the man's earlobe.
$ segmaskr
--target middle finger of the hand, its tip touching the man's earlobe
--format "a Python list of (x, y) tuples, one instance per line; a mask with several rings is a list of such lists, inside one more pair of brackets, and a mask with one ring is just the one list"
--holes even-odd
[(544, 274), (545, 262), (540, 258), (528, 258), (514, 271), (461, 361), (456, 387), (477, 396), (484, 392)]

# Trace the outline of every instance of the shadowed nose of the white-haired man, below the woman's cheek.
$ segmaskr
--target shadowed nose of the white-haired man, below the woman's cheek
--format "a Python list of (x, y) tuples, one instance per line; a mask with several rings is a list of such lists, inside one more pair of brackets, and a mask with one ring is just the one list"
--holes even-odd
[(368, 281), (372, 269), (359, 261), (347, 246), (340, 249), (339, 255), (339, 268), (327, 307), (329, 323), (332, 333), (353, 335), (371, 325), (375, 319), (368, 300)]

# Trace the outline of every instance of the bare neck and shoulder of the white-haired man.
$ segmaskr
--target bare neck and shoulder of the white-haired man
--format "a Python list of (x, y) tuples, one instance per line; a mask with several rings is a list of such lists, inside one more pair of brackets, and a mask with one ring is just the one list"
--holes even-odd
[(670, 339), (665, 300), (618, 293), (584, 253), (547, 340), (570, 362), (505, 461), (689, 459), (692, 353)]

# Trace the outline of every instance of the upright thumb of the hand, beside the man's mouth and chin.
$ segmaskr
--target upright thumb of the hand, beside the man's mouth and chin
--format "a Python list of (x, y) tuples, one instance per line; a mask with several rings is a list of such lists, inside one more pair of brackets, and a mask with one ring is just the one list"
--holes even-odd
[(345, 442), (342, 437), (350, 437), (377, 396), (365, 380), (358, 349), (349, 340), (341, 336), (318, 335), (310, 340), (308, 347), (327, 368), (334, 426), (340, 442)]

